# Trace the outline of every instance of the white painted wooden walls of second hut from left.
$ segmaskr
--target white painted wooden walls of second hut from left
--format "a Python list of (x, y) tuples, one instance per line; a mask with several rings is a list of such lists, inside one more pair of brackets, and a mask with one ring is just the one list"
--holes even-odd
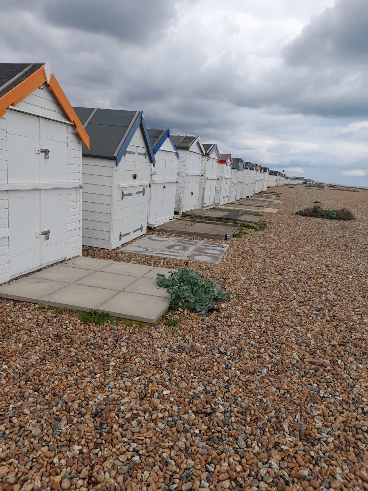
[(133, 153), (118, 166), (114, 160), (83, 157), (84, 246), (111, 250), (146, 233), (151, 162), (140, 126), (127, 150)]

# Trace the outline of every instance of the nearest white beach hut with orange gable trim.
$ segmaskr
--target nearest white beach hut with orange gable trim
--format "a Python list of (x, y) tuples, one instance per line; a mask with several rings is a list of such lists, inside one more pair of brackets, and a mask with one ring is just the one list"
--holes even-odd
[(0, 63), (0, 283), (81, 254), (82, 141), (49, 62)]

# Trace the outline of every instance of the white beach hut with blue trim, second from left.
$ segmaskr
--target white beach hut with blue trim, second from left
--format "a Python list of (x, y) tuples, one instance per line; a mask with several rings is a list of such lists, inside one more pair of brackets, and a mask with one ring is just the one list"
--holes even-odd
[(143, 111), (75, 108), (83, 146), (83, 246), (113, 249), (146, 233), (155, 157)]

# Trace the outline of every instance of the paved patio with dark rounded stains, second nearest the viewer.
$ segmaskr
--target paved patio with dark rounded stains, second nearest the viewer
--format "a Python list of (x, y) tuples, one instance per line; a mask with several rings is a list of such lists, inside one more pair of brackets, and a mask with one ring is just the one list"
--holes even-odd
[[(158, 239), (156, 249), (153, 250), (151, 244), (156, 239)], [(228, 244), (219, 244), (218, 242), (203, 242), (177, 237), (165, 237), (165, 241), (161, 239), (162, 236), (159, 235), (148, 235), (119, 249), (119, 252), (219, 264), (229, 247)]]

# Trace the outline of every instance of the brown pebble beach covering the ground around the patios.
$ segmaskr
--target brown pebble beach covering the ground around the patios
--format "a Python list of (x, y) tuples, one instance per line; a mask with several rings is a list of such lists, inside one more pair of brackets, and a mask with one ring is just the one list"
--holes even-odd
[[(0, 491), (368, 489), (368, 190), (273, 190), (264, 230), (189, 264), (230, 293), (205, 316), (0, 300)], [(354, 219), (295, 215), (315, 201)]]

